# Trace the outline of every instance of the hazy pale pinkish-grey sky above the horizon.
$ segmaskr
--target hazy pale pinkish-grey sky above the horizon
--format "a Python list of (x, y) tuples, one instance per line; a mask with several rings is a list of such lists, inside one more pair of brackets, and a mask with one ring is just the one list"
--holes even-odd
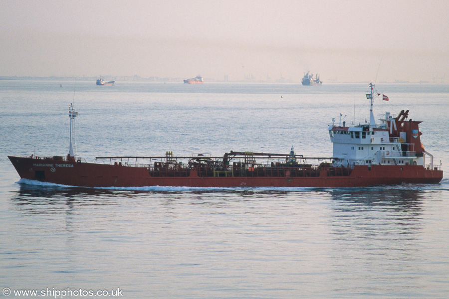
[(448, 0), (2, 0), (0, 14), (0, 76), (449, 82)]

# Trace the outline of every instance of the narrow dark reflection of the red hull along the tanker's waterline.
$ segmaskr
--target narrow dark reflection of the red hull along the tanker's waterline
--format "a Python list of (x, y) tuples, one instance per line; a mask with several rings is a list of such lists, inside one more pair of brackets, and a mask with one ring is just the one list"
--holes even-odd
[[(16, 204), (52, 204), (60, 199), (71, 200), (74, 198), (102, 198), (102, 197), (138, 197), (152, 194), (234, 194), (235, 196), (263, 196), (279, 197), (294, 196), (295, 194), (307, 194), (320, 192), (328, 194), (333, 200), (359, 203), (365, 205), (390, 205), (412, 207), (420, 200), (420, 194), (429, 190), (429, 185), (424, 188), (410, 189), (408, 186), (383, 186), (367, 188), (195, 188), (195, 187), (138, 187), (138, 188), (84, 188), (60, 185), (40, 185), (20, 183), (17, 191), (11, 191)], [(43, 200), (45, 199), (45, 200)]]

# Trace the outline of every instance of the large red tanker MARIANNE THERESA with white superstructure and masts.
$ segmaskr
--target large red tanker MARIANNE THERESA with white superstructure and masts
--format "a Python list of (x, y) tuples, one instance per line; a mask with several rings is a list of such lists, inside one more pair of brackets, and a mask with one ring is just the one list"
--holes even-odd
[[(98, 156), (94, 162), (76, 157), (72, 125), (78, 113), (69, 107), (70, 143), (66, 156), (8, 156), (21, 178), (81, 187), (363, 187), (402, 183), (438, 183), (440, 165), (421, 144), (420, 121), (408, 119), (408, 110), (397, 116), (374, 118), (370, 84), (370, 122), (328, 126), (333, 144), (331, 157), (290, 152), (226, 152), (223, 156), (194, 153), (176, 156), (172, 151), (156, 156)], [(388, 97), (383, 95), (384, 100)]]

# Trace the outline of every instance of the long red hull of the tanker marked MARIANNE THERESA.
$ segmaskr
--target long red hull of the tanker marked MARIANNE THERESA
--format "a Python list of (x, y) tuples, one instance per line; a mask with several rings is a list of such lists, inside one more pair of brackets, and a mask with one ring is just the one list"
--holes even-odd
[[(356, 165), (350, 173), (338, 171), (339, 167), (323, 167), (315, 176), (202, 176), (189, 169), (176, 176), (164, 172), (150, 175), (147, 167), (85, 163), (75, 160), (40, 159), (8, 156), (19, 176), (25, 179), (80, 187), (363, 187), (401, 183), (438, 183), (443, 171), (426, 169), (422, 165)], [(287, 169), (287, 168), (285, 168)], [(171, 170), (170, 170), (171, 171)], [(293, 173), (293, 172), (292, 172)], [(172, 176), (173, 175), (173, 176)]]

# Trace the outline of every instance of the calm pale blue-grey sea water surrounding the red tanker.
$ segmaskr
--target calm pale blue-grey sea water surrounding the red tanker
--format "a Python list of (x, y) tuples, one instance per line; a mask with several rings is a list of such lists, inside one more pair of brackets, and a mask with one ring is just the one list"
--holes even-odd
[(445, 171), (440, 184), (19, 184), (6, 155), (65, 155), (70, 103), (79, 112), (77, 153), (87, 160), (291, 146), (331, 156), (327, 126), (340, 113), (347, 123), (368, 119), (368, 86), (0, 81), (0, 289), (12, 292), (0, 296), (120, 288), (122, 298), (139, 299), (448, 298), (449, 85), (377, 89), (390, 101), (377, 101), (376, 113), (409, 109), (423, 121), (421, 140)]

